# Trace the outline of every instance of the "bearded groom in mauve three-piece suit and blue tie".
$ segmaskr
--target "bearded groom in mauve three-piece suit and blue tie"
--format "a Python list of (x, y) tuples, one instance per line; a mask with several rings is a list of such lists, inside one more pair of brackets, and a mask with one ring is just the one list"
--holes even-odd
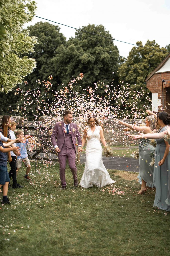
[(77, 125), (72, 123), (72, 120), (73, 115), (71, 111), (65, 110), (63, 112), (63, 121), (55, 124), (51, 135), (51, 142), (55, 148), (55, 152), (58, 153), (62, 189), (66, 189), (65, 169), (67, 158), (73, 174), (74, 186), (78, 186), (77, 168), (75, 165), (76, 138), (79, 144), (79, 152), (82, 151), (82, 141)]

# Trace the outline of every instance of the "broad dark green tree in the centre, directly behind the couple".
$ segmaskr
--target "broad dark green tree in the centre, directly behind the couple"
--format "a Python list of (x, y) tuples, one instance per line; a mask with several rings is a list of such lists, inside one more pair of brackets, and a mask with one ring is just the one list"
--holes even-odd
[[(82, 27), (82, 30), (112, 37), (102, 25), (89, 24)], [(57, 48), (56, 56), (51, 59), (49, 66), (50, 73), (58, 84), (57, 89), (62, 88), (62, 83), (67, 85), (70, 78), (76, 77), (80, 72), (84, 74), (81, 83), (83, 88), (93, 87), (98, 80), (108, 79), (111, 83), (115, 79), (117, 82), (119, 51), (110, 39), (76, 30), (75, 38), (71, 37), (66, 46)], [(115, 73), (112, 74), (113, 72)]]

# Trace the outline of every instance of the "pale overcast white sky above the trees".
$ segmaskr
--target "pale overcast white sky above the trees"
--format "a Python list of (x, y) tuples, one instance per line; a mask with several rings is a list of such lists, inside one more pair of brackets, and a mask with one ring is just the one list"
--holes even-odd
[[(88, 24), (103, 25), (113, 38), (132, 44), (155, 40), (160, 47), (170, 44), (169, 0), (35, 0), (36, 15), (81, 28)], [(34, 17), (28, 25), (45, 21)], [(53, 22), (49, 22), (55, 24)], [(56, 24), (57, 25), (57, 24)], [(67, 38), (75, 36), (75, 29), (59, 25)], [(132, 45), (114, 41), (120, 55), (127, 57)]]

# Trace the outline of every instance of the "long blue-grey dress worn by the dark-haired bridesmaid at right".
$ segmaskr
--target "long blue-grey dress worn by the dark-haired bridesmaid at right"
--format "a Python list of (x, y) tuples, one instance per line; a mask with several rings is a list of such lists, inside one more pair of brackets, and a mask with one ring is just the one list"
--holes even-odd
[[(163, 127), (159, 132), (166, 130)], [(163, 165), (159, 166), (158, 162), (163, 158), (166, 144), (163, 138), (156, 140), (155, 147), (155, 165), (153, 172), (153, 184), (156, 187), (156, 194), (153, 206), (162, 210), (170, 211), (170, 183), (169, 183), (169, 167), (170, 154), (167, 155)]]

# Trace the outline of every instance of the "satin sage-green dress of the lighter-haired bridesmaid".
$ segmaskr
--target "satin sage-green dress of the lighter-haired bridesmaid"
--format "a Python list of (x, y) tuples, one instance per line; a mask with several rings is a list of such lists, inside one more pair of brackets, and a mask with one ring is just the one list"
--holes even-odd
[[(151, 156), (155, 148), (150, 145), (149, 139), (139, 142), (139, 176), (147, 182), (147, 186), (153, 187), (153, 166), (150, 166)], [(139, 177), (138, 176), (138, 177)]]

